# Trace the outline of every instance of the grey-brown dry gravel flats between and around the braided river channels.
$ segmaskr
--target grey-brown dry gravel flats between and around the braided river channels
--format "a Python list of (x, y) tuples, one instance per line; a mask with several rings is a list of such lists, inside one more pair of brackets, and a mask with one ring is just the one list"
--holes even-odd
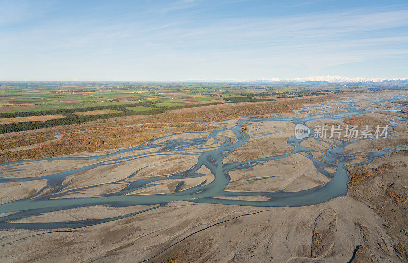
[[(371, 103), (376, 100), (375, 96), (360, 94), (355, 95), (353, 99), (364, 107), (371, 107)], [(330, 102), (327, 105), (330, 105)], [(308, 106), (310, 106), (308, 114), (322, 114), (322, 105)], [(340, 100), (333, 101), (332, 110), (344, 112), (342, 108), (344, 106)], [(381, 110), (381, 104), (374, 106)], [(386, 106), (388, 108), (389, 105)], [(304, 114), (306, 113), (285, 113), (281, 117)], [(370, 113), (369, 117), (378, 122), (395, 118), (393, 115), (385, 114), (385, 111)], [(323, 121), (333, 122), (333, 119)], [(343, 119), (336, 122), (345, 124)], [(408, 145), (406, 133), (408, 122), (401, 118), (398, 119), (398, 123), (399, 127), (390, 128), (393, 134), (389, 138), (361, 141), (344, 148), (344, 152), (375, 153), (388, 146)], [(317, 121), (308, 123), (310, 126), (316, 124)], [(228, 128), (236, 124), (235, 120), (229, 120), (217, 125)], [(247, 133), (251, 138), (224, 158), (224, 164), (293, 151), (293, 147), (287, 143), (293, 136), (292, 123), (275, 121), (264, 122), (259, 126), (248, 124), (247, 127)], [(157, 143), (165, 145), (177, 140), (203, 139), (207, 136), (209, 132), (174, 134), (157, 140)], [(172, 179), (168, 177), (169, 175), (192, 168), (203, 152), (217, 149), (227, 143), (235, 144), (237, 141), (234, 133), (228, 130), (203, 144), (186, 145), (172, 154), (159, 153), (160, 147), (135, 148), (133, 151), (112, 156), (109, 156), (109, 153), (115, 151), (80, 153), (64, 156), (73, 159), (39, 160), (20, 165), (0, 166), (2, 178), (42, 178), (44, 175), (89, 166), (89, 169), (65, 177), (60, 184), (49, 184), (47, 179), (0, 183), (2, 189), (0, 204), (47, 194), (53, 194), (53, 200), (72, 198), (72, 202), (75, 202), (75, 198), (98, 198), (123, 191), (135, 181), (148, 181), (155, 177), (160, 177), (160, 180), (149, 181), (146, 187), (134, 188), (126, 195), (137, 198), (146, 195), (154, 197), (160, 194), (183, 193), (197, 185), (211, 185), (216, 179), (214, 174), (202, 166), (197, 171), (200, 174), (197, 177), (181, 176)], [(333, 139), (326, 139), (323, 143), (307, 140), (301, 145), (313, 149), (316, 160), (322, 160), (325, 152), (339, 143)], [(82, 158), (102, 154), (106, 154), (106, 157)], [(231, 171), (228, 174), (230, 182), (225, 190), (296, 192), (327, 184), (331, 178), (319, 173), (311, 159), (307, 157), (304, 153), (295, 153), (282, 159), (263, 161), (247, 169)], [(120, 158), (123, 161), (118, 162)], [(115, 220), (95, 221), (95, 224), (83, 227), (5, 228), (0, 230), (0, 258), (5, 262), (408, 261), (406, 216), (408, 154), (399, 151), (366, 164), (353, 165), (361, 161), (362, 159), (355, 157), (346, 163), (350, 165), (348, 166), (350, 175), (362, 176), (358, 183), (348, 185), (346, 195), (315, 205), (256, 207), (179, 200), (155, 205), (97, 204), (21, 217), (11, 223), (52, 224), (92, 219), (115, 218)], [(103, 165), (96, 165), (98, 163)], [(389, 166), (386, 166), (387, 169), (377, 169), (385, 167), (384, 165)], [(334, 169), (327, 168), (326, 171), (333, 173)], [(218, 198), (267, 200), (263, 195), (218, 196)], [(13, 215), (13, 212), (0, 216), (9, 215)]]

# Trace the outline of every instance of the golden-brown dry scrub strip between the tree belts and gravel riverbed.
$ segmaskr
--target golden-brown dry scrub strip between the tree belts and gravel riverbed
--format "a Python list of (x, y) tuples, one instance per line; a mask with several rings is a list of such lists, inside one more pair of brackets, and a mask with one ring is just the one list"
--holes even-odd
[[(317, 103), (328, 99), (333, 99), (333, 96), (294, 98), (268, 102), (228, 103), (169, 111), (151, 116), (134, 115), (117, 117), (93, 121), (87, 124), (81, 124), (80, 126), (70, 125), (65, 126), (65, 131), (72, 131), (74, 129), (92, 129), (92, 131), (66, 134), (62, 139), (44, 142), (44, 144), (38, 148), (6, 152), (0, 155), (0, 162), (40, 159), (78, 152), (131, 147), (139, 145), (146, 140), (173, 132), (207, 131), (216, 128), (213, 126), (202, 126), (202, 123), (182, 125), (177, 125), (176, 123), (211, 122), (233, 117), (254, 115), (263, 117), (272, 113), (289, 112), (303, 107), (306, 103)], [(134, 127), (134, 124), (141, 125)], [(0, 140), (0, 142), (2, 144), (10, 144), (10, 142), (24, 141), (30, 137), (32, 139), (34, 136), (49, 136), (57, 133), (57, 130), (58, 133), (63, 132), (63, 130), (60, 130), (58, 127), (41, 129), (41, 131), (35, 131), (36, 133), (25, 131), (13, 133), (12, 136), (5, 137)]]

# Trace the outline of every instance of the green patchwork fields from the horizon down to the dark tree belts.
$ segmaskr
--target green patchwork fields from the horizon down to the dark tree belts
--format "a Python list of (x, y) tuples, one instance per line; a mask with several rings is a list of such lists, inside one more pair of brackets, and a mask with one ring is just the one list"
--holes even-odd
[[(225, 97), (248, 93), (271, 91), (284, 93), (291, 92), (290, 90), (290, 87), (225, 83), (0, 83), (0, 113), (78, 109), (138, 102), (175, 107), (212, 101), (222, 102)], [(151, 109), (136, 107), (131, 110)]]

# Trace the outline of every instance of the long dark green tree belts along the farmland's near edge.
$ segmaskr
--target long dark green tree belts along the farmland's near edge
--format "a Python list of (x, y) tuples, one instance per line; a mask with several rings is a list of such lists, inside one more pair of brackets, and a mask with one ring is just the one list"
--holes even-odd
[[(0, 134), (8, 132), (19, 132), (25, 130), (34, 130), (40, 128), (49, 128), (58, 125), (70, 125), (70, 124), (79, 124), (89, 121), (95, 121), (96, 119), (108, 119), (113, 117), (122, 117), (130, 115), (155, 115), (159, 113), (164, 113), (167, 110), (176, 110), (182, 108), (192, 108), (196, 107), (196, 104), (186, 104), (175, 107), (165, 107), (154, 105), (155, 102), (139, 102), (131, 104), (121, 104), (121, 105), (108, 105), (108, 106), (96, 106), (96, 107), (87, 107), (87, 108), (76, 108), (76, 109), (56, 109), (56, 110), (47, 110), (47, 111), (31, 111), (31, 112), (11, 112), (11, 113), (1, 113), (0, 118), (14, 118), (14, 117), (28, 117), (28, 116), (39, 116), (39, 115), (62, 115), (66, 116), (65, 118), (56, 118), (49, 119), (45, 121), (33, 121), (33, 122), (18, 122), (18, 123), (7, 123), (0, 125)], [(203, 105), (215, 105), (221, 104), (220, 102), (213, 102)], [(151, 110), (144, 111), (133, 111), (126, 108), (135, 107), (135, 106), (144, 106), (150, 107)], [(103, 110), (111, 109), (120, 111), (117, 113), (107, 113), (107, 114), (98, 114), (98, 115), (86, 115), (86, 116), (77, 116), (73, 114), (74, 112), (84, 112), (84, 111), (93, 111), (93, 110)]]

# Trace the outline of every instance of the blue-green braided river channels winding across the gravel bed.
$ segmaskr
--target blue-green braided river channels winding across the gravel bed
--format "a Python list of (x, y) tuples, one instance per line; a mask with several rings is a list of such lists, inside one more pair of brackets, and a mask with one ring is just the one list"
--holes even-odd
[[(241, 162), (234, 162), (234, 163), (223, 163), (223, 159), (232, 153), (235, 149), (245, 145), (249, 139), (255, 137), (261, 137), (270, 135), (273, 133), (267, 133), (256, 136), (253, 133), (258, 131), (259, 125), (265, 122), (274, 122), (274, 121), (287, 121), (293, 124), (305, 124), (305, 122), (319, 120), (319, 119), (341, 119), (346, 118), (353, 115), (364, 114), (369, 111), (369, 109), (359, 109), (354, 107), (354, 101), (347, 101), (346, 106), (344, 109), (347, 112), (342, 113), (335, 113), (335, 112), (327, 112), (326, 110), (331, 109), (326, 104), (322, 104), (322, 114), (319, 115), (308, 115), (305, 113), (309, 112), (309, 108), (300, 109), (299, 112), (305, 114), (302, 117), (291, 117), (291, 118), (281, 118), (281, 117), (274, 117), (274, 118), (235, 118), (234, 120), (237, 121), (237, 124), (230, 128), (220, 128), (215, 131), (209, 132), (209, 135), (205, 138), (196, 138), (196, 139), (167, 139), (172, 135), (178, 135), (181, 133), (170, 134), (167, 136), (163, 136), (156, 139), (151, 139), (143, 144), (130, 147), (126, 149), (119, 150), (114, 153), (110, 154), (102, 154), (98, 156), (91, 156), (91, 157), (54, 157), (54, 158), (47, 158), (43, 160), (97, 160), (103, 159), (106, 157), (114, 157), (115, 155), (119, 155), (126, 152), (136, 151), (135, 154), (126, 157), (117, 157), (110, 160), (101, 160), (98, 163), (86, 165), (78, 169), (73, 169), (69, 171), (64, 171), (61, 173), (38, 176), (38, 177), (20, 177), (20, 178), (7, 178), (7, 177), (0, 177), (0, 187), (2, 187), (2, 183), (6, 182), (28, 182), (28, 181), (36, 181), (36, 180), (47, 180), (47, 185), (43, 188), (54, 188), (53, 192), (46, 194), (46, 195), (38, 195), (35, 194), (28, 199), (17, 200), (5, 204), (0, 204), (0, 213), (10, 213), (7, 216), (0, 217), (0, 229), (7, 229), (7, 228), (25, 228), (25, 229), (43, 229), (43, 228), (61, 228), (61, 227), (82, 227), (87, 225), (94, 225), (98, 223), (103, 223), (107, 221), (116, 220), (119, 218), (123, 218), (126, 216), (132, 216), (134, 214), (138, 214), (144, 211), (130, 213), (125, 216), (118, 216), (112, 218), (103, 218), (103, 219), (92, 219), (92, 220), (81, 220), (81, 221), (70, 221), (70, 222), (53, 222), (53, 223), (11, 223), (11, 221), (15, 221), (22, 218), (27, 218), (30, 216), (34, 216), (36, 214), (41, 213), (49, 213), (53, 211), (59, 210), (66, 210), (71, 208), (77, 207), (85, 207), (85, 206), (93, 206), (93, 205), (108, 205), (112, 207), (124, 207), (124, 206), (134, 206), (134, 205), (157, 205), (156, 207), (163, 206), (168, 204), (171, 201), (190, 201), (196, 203), (213, 203), (213, 204), (226, 204), (226, 205), (246, 205), (246, 206), (305, 206), (305, 205), (313, 205), (328, 201), (335, 197), (343, 196), (347, 193), (347, 168), (345, 163), (350, 160), (351, 158), (360, 158), (362, 161), (359, 164), (369, 163), (370, 161), (374, 160), (375, 158), (379, 158), (381, 156), (385, 156), (390, 154), (392, 151), (395, 150), (396, 147), (385, 147), (382, 151), (374, 152), (374, 153), (356, 153), (356, 154), (347, 154), (343, 153), (344, 147), (354, 144), (360, 140), (364, 139), (356, 139), (353, 141), (342, 141), (339, 140), (339, 143), (336, 146), (330, 147), (324, 154), (325, 156), (322, 160), (315, 159), (312, 155), (313, 150), (305, 148), (300, 145), (300, 143), (305, 139), (313, 139), (319, 143), (324, 143), (323, 141), (318, 141), (318, 139), (314, 138), (305, 138), (305, 139), (297, 139), (295, 136), (291, 137), (287, 140), (287, 144), (293, 147), (292, 152), (287, 154), (280, 154), (280, 155), (272, 155), (265, 158), (256, 158), (256, 159), (249, 159)], [(275, 116), (278, 116), (277, 114)], [(392, 121), (394, 122), (394, 121)], [(241, 131), (242, 124), (249, 123), (256, 125), (257, 130), (252, 133), (244, 133)], [(214, 123), (216, 124), (216, 123)], [(395, 122), (395, 124), (397, 124)], [(216, 136), (220, 132), (224, 132), (230, 130), (234, 133), (237, 141), (231, 142), (230, 140), (224, 142), (221, 146), (214, 148), (215, 144), (219, 142)], [(291, 132), (291, 131), (290, 131)], [(293, 131), (294, 132), (294, 131)], [(367, 138), (372, 139), (372, 138)], [(210, 145), (206, 145), (209, 140), (214, 140), (214, 142)], [(218, 145), (218, 144), (217, 144)], [(156, 176), (142, 180), (135, 180), (132, 181), (133, 176), (136, 176), (138, 171), (130, 174), (127, 178), (113, 182), (126, 182), (130, 183), (129, 186), (121, 189), (115, 193), (109, 193), (106, 195), (101, 195), (98, 197), (91, 197), (91, 198), (59, 198), (54, 199), (57, 197), (63, 197), (68, 192), (72, 190), (65, 191), (65, 186), (62, 185), (62, 182), (66, 179), (67, 176), (73, 175), (78, 172), (90, 170), (97, 168), (99, 166), (104, 165), (113, 165), (113, 164), (120, 164), (123, 162), (137, 162), (141, 158), (149, 157), (149, 156), (156, 156), (156, 155), (171, 155), (171, 154), (183, 154), (183, 150), (187, 148), (201, 150), (202, 153), (198, 157), (197, 163), (192, 166), (190, 169), (175, 173), (167, 176)], [(408, 148), (407, 146), (400, 146), (404, 148)], [(148, 152), (148, 153), (137, 153), (138, 150), (144, 149), (158, 149), (156, 151)], [(266, 161), (272, 161), (277, 159), (286, 158), (293, 154), (302, 154), (303, 156), (309, 158), (317, 171), (327, 178), (330, 181), (324, 185), (320, 185), (318, 187), (314, 187), (308, 190), (301, 190), (297, 192), (233, 192), (233, 191), (226, 191), (225, 188), (230, 183), (230, 176), (229, 173), (235, 170), (245, 170), (256, 166), (259, 163), (264, 163)], [(5, 165), (24, 165), (25, 163), (37, 162), (38, 160), (27, 160), (27, 161), (15, 161), (15, 162), (8, 162), (2, 163), (0, 166)], [(208, 168), (212, 174), (214, 174), (214, 181), (210, 182), (207, 185), (203, 185), (204, 183), (191, 187), (186, 190), (180, 190), (182, 185), (177, 185), (176, 190), (174, 193), (171, 194), (155, 194), (155, 195), (127, 195), (128, 193), (134, 192), (137, 189), (150, 187), (155, 185), (156, 181), (164, 180), (164, 179), (174, 179), (174, 180), (181, 180), (185, 178), (194, 178), (194, 177), (201, 177), (202, 174), (197, 173), (197, 170), (200, 169), (202, 166)], [(335, 173), (329, 173), (326, 168), (334, 168)], [(95, 175), (97, 176), (97, 175)], [(273, 171), (270, 174), (265, 174), (265, 177), (273, 176)], [(248, 183), (251, 183), (248, 181)], [(110, 183), (107, 183), (110, 184)], [(81, 191), (84, 189), (89, 189), (95, 186), (87, 186), (82, 188), (75, 189), (76, 191)], [(40, 193), (43, 189), (41, 189), (38, 193)], [(267, 200), (266, 201), (244, 201), (237, 199), (222, 199), (221, 197), (239, 197), (239, 196), (264, 196)], [(150, 208), (154, 209), (154, 208)], [(150, 210), (147, 209), (147, 210)], [(147, 211), (146, 210), (146, 211)]]

